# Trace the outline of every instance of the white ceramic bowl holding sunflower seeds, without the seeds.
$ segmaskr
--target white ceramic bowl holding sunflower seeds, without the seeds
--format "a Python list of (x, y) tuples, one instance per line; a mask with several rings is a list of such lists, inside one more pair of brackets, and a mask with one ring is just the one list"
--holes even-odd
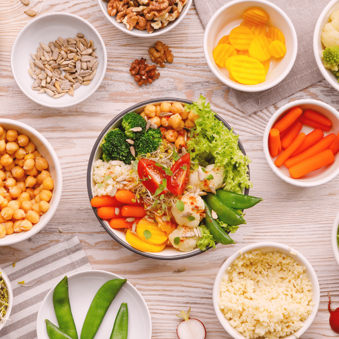
[[(98, 55), (99, 65), (97, 73), (91, 83), (80, 86), (74, 91), (74, 97), (66, 94), (54, 99), (47, 94), (38, 94), (33, 91), (34, 79), (28, 74), (30, 54), (36, 54), (40, 42), (48, 44), (58, 37), (74, 37), (82, 33), (87, 40), (92, 39), (95, 52)], [(64, 108), (76, 105), (90, 97), (100, 86), (105, 76), (107, 54), (105, 44), (98, 31), (86, 20), (69, 13), (48, 13), (40, 15), (24, 26), (16, 37), (11, 53), (11, 67), (14, 79), (21, 91), (36, 103), (52, 108)]]

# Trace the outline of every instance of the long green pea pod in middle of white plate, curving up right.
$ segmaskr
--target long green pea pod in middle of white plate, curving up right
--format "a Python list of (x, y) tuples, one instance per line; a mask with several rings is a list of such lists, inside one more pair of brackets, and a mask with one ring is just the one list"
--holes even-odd
[(127, 279), (113, 279), (105, 282), (94, 296), (84, 324), (82, 326), (80, 339), (93, 339), (98, 332), (99, 326), (111, 305), (114, 297), (120, 291)]

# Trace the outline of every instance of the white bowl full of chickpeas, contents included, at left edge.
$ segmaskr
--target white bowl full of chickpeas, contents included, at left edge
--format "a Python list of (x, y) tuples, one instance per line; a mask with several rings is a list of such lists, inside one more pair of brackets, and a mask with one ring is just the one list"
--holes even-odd
[(0, 119), (0, 246), (40, 232), (61, 192), (61, 166), (51, 144), (22, 122)]

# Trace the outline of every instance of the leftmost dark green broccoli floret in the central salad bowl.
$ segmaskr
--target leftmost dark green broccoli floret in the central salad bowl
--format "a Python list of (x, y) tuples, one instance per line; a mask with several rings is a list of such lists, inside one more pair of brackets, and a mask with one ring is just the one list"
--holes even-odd
[(135, 160), (126, 142), (125, 133), (119, 128), (112, 129), (103, 138), (101, 144), (103, 161), (120, 160), (130, 165), (131, 160)]

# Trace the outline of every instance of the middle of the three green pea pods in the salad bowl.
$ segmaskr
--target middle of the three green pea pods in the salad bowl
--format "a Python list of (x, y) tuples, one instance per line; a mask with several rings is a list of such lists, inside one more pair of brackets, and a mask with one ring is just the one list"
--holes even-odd
[(207, 193), (206, 201), (211, 210), (218, 215), (218, 219), (227, 225), (237, 226), (245, 224), (246, 221), (233, 208), (226, 206), (221, 200), (212, 193)]

